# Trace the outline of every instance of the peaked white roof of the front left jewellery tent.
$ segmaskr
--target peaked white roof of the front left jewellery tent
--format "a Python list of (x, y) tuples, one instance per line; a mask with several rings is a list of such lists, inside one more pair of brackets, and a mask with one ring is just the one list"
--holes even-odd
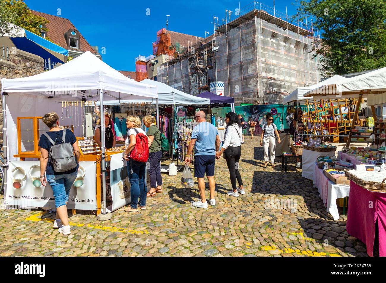
[[(55, 97), (83, 97), (96, 100), (103, 89), (105, 101), (117, 99), (158, 98), (157, 87), (131, 80), (95, 57), (90, 51), (38, 75), (2, 79), (3, 92), (19, 92)], [(82, 90), (82, 91), (81, 91)], [(89, 97), (92, 95), (92, 97)]]

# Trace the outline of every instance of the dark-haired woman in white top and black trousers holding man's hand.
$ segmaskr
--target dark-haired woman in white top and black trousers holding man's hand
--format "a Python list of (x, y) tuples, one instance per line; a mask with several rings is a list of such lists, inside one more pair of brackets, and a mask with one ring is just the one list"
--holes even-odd
[[(230, 174), (230, 183), (232, 184), (232, 191), (228, 192), (230, 196), (238, 197), (239, 194), (245, 194), (241, 175), (239, 172), (239, 160), (241, 156), (242, 144), (242, 128), (240, 119), (235, 112), (229, 112), (225, 116), (227, 127), (225, 128), (224, 144), (221, 150), (216, 153), (216, 158), (219, 159), (224, 153), (224, 158), (227, 161), (227, 166)], [(236, 186), (236, 180), (239, 183), (239, 188)]]

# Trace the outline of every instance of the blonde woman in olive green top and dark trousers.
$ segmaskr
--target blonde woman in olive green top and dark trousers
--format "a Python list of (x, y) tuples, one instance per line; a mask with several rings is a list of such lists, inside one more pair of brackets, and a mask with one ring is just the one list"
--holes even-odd
[(162, 177), (161, 177), (161, 132), (154, 124), (154, 117), (146, 115), (143, 118), (144, 124), (149, 129), (147, 130), (149, 159), (150, 163), (150, 191), (147, 196), (155, 196), (157, 193), (162, 193)]

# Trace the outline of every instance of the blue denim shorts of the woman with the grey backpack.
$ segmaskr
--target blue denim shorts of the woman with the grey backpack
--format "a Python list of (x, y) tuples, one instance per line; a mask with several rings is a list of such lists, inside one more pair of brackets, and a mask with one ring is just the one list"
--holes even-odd
[(78, 172), (63, 175), (46, 175), (47, 182), (52, 188), (55, 197), (55, 207), (66, 205), (70, 194), (71, 186), (73, 185)]

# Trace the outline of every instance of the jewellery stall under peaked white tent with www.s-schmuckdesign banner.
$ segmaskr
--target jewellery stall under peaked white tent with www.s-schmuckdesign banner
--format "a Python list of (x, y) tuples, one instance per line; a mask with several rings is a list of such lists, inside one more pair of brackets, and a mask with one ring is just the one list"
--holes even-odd
[[(27, 197), (25, 199), (39, 199), (39, 203), (36, 203), (39, 205), (36, 206), (52, 206), (52, 201), (51, 203), (47, 201), (52, 199), (50, 195), (52, 190), (35, 186), (36, 184), (32, 182), (35, 175), (32, 174), (36, 172), (25, 160), (31, 159), (29, 161), (35, 162), (34, 165), (39, 165), (40, 151), (37, 142), (40, 135), (47, 130), (44, 129), (41, 116), (47, 112), (56, 112), (60, 117), (60, 124), (67, 125), (66, 127), (73, 130), (83, 153), (80, 157), (80, 165), (84, 167), (84, 170), (83, 173), (78, 172), (78, 177), (86, 178), (82, 186), (79, 188), (73, 186), (71, 189), (70, 197), (74, 199), (73, 208), (85, 209), (81, 204), (88, 203), (92, 205), (89, 206), (90, 210), (96, 210), (97, 214), (100, 214), (102, 189), (103, 214), (107, 214), (106, 161), (110, 160), (112, 156), (119, 156), (117, 159), (122, 160), (123, 150), (106, 152), (104, 146), (98, 148), (93, 137), (85, 134), (85, 127), (90, 124), (93, 127), (96, 122), (95, 116), (85, 115), (85, 108), (90, 107), (91, 102), (94, 104), (95, 101), (99, 101), (100, 117), (103, 119), (105, 101), (143, 98), (155, 99), (157, 102), (157, 87), (141, 84), (125, 77), (91, 52), (86, 52), (66, 64), (38, 75), (19, 79), (2, 79), (4, 155), (9, 169), (12, 168), (11, 166), (14, 166), (14, 169), (17, 168), (7, 170), (5, 167), (5, 176), (7, 180), (21, 178), (22, 181), (22, 186), (19, 188), (6, 185), (5, 203), (18, 206), (20, 205), (18, 199), (25, 196)], [(19, 118), (25, 118), (26, 121), (20, 122)], [(101, 141), (102, 144), (105, 144), (105, 127), (101, 127)], [(91, 163), (85, 164), (84, 162), (91, 162), (94, 165), (91, 166)], [(120, 166), (123, 168), (125, 162), (122, 162)], [(87, 173), (96, 172), (96, 181), (93, 174), (87, 174), (85, 171)], [(27, 174), (31, 181), (26, 181)], [(117, 182), (117, 194), (120, 194), (120, 190), (125, 189), (124, 181), (127, 180), (125, 177), (127, 176), (122, 176), (121, 182)], [(86, 184), (86, 181), (90, 183)], [(33, 195), (26, 196), (27, 189), (24, 188), (31, 189), (31, 184), (36, 189), (32, 192)], [(81, 191), (87, 191), (88, 196), (94, 195), (95, 198), (77, 198), (76, 196)], [(14, 199), (12, 196), (19, 196), (19, 198)], [(129, 203), (130, 198), (126, 196), (127, 194), (124, 194), (120, 205)]]

